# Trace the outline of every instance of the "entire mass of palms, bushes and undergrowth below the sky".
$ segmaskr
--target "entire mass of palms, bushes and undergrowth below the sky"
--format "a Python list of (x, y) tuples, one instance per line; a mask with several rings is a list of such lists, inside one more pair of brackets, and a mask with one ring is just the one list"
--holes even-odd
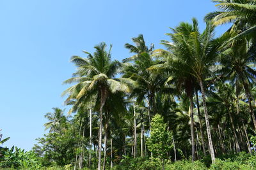
[[(0, 166), (29, 169), (256, 169), (256, 1), (216, 1), (219, 11), (181, 22), (161, 41), (102, 42), (64, 83), (64, 110), (30, 152), (0, 148)], [(232, 23), (220, 37), (217, 25)], [(70, 116), (72, 114), (72, 116)], [(4, 139), (6, 141), (8, 139)], [(0, 139), (1, 141), (1, 139)]]

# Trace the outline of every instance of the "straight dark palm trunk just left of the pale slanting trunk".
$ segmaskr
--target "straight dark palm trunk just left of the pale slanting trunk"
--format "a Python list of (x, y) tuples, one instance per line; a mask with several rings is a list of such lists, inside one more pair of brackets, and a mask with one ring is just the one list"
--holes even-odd
[(195, 131), (194, 131), (194, 103), (192, 94), (189, 95), (190, 101), (190, 130), (191, 130), (191, 146), (192, 146), (192, 161), (195, 161)]

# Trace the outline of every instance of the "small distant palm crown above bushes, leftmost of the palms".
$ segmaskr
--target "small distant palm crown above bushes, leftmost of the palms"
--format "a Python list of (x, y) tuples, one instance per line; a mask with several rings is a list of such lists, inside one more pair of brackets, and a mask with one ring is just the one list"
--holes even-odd
[(67, 122), (67, 118), (63, 115), (64, 110), (61, 110), (60, 108), (52, 108), (54, 110), (53, 113), (49, 112), (46, 113), (44, 116), (49, 120), (49, 122), (45, 123), (45, 130), (50, 129), (51, 132), (59, 132), (61, 131), (61, 128)]

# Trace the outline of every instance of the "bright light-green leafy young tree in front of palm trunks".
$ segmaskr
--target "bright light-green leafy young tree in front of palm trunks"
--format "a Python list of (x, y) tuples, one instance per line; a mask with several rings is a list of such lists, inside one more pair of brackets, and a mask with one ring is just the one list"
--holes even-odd
[(148, 150), (153, 153), (153, 157), (167, 159), (167, 153), (172, 149), (172, 133), (167, 131), (164, 119), (157, 114), (152, 118), (150, 138), (147, 141)]

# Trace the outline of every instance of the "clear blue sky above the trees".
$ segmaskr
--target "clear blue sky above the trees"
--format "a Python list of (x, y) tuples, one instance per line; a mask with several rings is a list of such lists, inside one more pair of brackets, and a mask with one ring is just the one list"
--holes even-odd
[[(45, 113), (65, 108), (62, 85), (75, 67), (72, 55), (113, 44), (113, 58), (129, 57), (125, 43), (143, 34), (156, 48), (168, 27), (198, 18), (204, 29), (210, 0), (1, 0), (0, 129), (6, 146), (29, 150), (44, 135)], [(227, 29), (218, 27), (217, 34)]]

